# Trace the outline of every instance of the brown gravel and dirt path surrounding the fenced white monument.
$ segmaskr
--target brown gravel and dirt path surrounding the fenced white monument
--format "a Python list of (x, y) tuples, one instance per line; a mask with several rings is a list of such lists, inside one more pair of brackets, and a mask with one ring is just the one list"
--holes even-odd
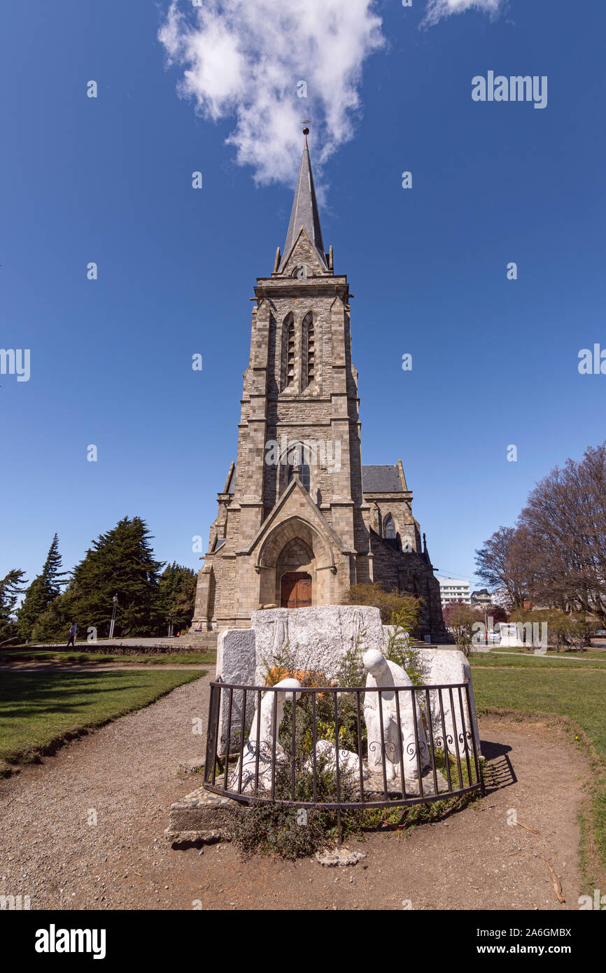
[[(178, 765), (203, 753), (210, 678), (0, 781), (0, 894), (29, 895), (32, 909), (578, 907), (586, 765), (553, 728), (502, 718), (480, 723), (499, 786), (444, 822), (353, 843), (367, 852), (354, 868), (243, 862), (232, 845), (173, 849), (162, 832), (170, 804), (197, 783)], [(510, 809), (540, 834), (508, 825)]]

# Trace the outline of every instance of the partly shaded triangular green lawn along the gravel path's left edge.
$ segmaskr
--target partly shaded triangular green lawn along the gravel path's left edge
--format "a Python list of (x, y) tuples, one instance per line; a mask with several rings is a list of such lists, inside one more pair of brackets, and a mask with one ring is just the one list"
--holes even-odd
[(154, 703), (199, 671), (8, 672), (0, 678), (0, 775), (83, 730)]

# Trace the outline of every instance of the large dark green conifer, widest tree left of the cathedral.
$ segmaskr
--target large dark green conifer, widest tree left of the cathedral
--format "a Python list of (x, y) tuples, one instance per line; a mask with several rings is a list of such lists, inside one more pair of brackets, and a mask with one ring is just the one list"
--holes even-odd
[(118, 595), (117, 637), (158, 634), (162, 624), (159, 579), (164, 564), (154, 559), (150, 537), (140, 517), (125, 517), (100, 534), (74, 568), (67, 590), (40, 617), (33, 638), (65, 636), (67, 640), (72, 622), (78, 623), (81, 635), (94, 628), (98, 638), (107, 638), (114, 595)]

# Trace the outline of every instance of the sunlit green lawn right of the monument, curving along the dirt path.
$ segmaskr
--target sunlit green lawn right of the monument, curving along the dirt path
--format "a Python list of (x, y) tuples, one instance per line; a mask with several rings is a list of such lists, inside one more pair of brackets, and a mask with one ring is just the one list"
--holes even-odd
[[(495, 656), (492, 662), (511, 658)], [(593, 761), (590, 814), (582, 813), (581, 817), (581, 863), (586, 883), (593, 887), (592, 883), (603, 882), (606, 877), (606, 669), (594, 660), (587, 664), (562, 660), (561, 665), (542, 659), (513, 662), (515, 667), (505, 662), (489, 668), (485, 656), (481, 661), (477, 656), (472, 659), (476, 705), (480, 712), (494, 708), (567, 716), (587, 734), (597, 758)], [(529, 671), (533, 667), (536, 671)], [(592, 844), (601, 870), (596, 870), (591, 860)]]

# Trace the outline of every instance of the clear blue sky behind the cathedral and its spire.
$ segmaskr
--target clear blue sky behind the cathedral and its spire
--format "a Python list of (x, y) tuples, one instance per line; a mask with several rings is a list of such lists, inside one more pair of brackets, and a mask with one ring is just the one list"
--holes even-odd
[[(262, 154), (260, 118), (253, 164), (238, 164), (230, 107), (213, 121), (179, 97), (167, 9), (3, 9), (0, 345), (29, 348), (31, 375), (0, 376), (0, 576), (31, 579), (54, 531), (71, 568), (125, 515), (149, 523), (160, 559), (197, 569), (192, 537), (205, 548), (235, 454), (249, 298), (292, 203), (271, 153), (283, 176), (288, 152)], [(363, 461), (402, 458), (434, 564), (472, 577), (535, 482), (606, 437), (606, 376), (577, 367), (581, 348), (606, 347), (606, 8), (510, 0), (424, 29), (421, 0), (373, 10), (384, 43), (353, 83), (353, 137), (325, 118), (328, 82), (291, 110), (317, 119), (324, 241), (355, 295)], [(310, 66), (316, 88), (324, 70)], [(474, 102), (488, 70), (548, 76), (547, 108)]]

